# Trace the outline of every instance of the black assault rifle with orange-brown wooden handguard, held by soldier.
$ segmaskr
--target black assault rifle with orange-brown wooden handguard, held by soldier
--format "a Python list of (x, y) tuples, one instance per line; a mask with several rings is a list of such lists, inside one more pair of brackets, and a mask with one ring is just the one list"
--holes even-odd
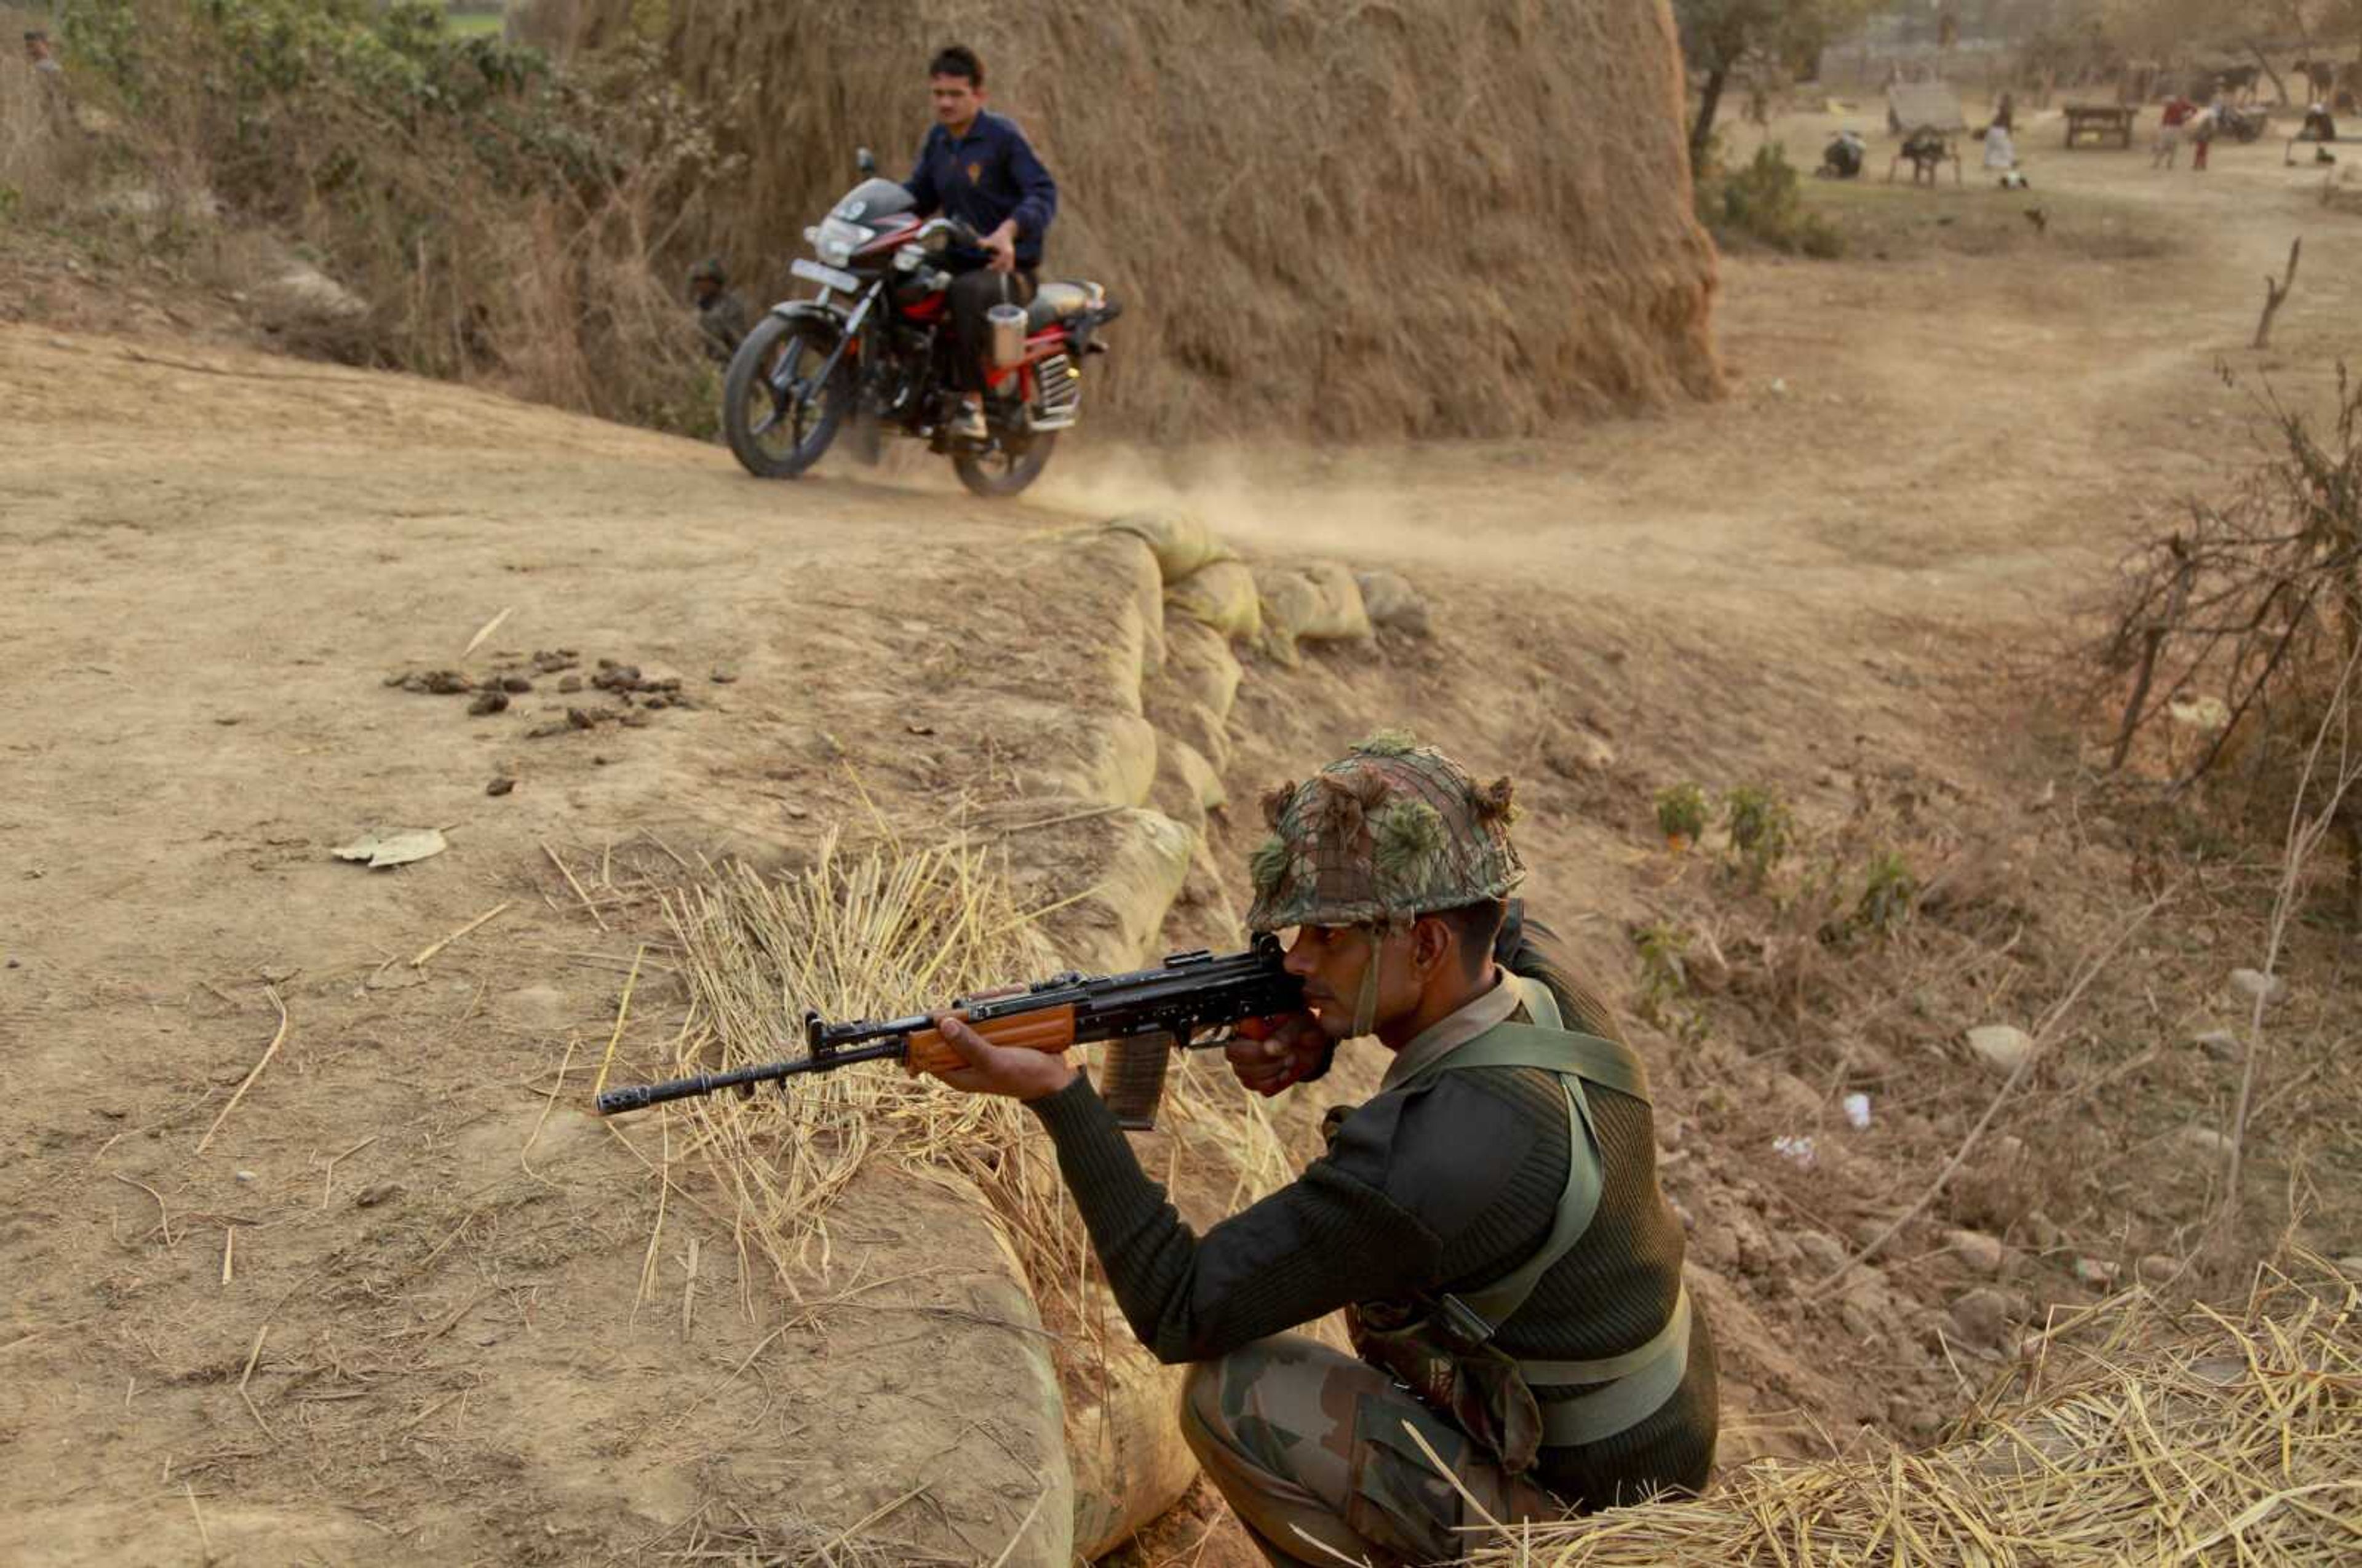
[[(1122, 1126), (1148, 1131), (1157, 1119), (1157, 1100), (1164, 1098), (1164, 1067), (1174, 1051), (1219, 1046), (1233, 1032), (1259, 1034), (1261, 1020), (1301, 1013), (1304, 982), (1280, 968), (1278, 940), (1259, 935), (1245, 952), (1176, 952), (1162, 968), (1129, 975), (1051, 975), (1020, 992), (957, 999), (950, 1011), (997, 1046), (1065, 1051), (1115, 1041), (1108, 1046), (1101, 1093)], [(829, 1023), (808, 1011), (803, 1046), (803, 1056), (784, 1063), (609, 1089), (598, 1098), (598, 1112), (612, 1117), (720, 1089), (751, 1091), (753, 1084), (782, 1084), (784, 1093), (787, 1079), (796, 1074), (836, 1072), (855, 1063), (900, 1060), (914, 1072), (959, 1065), (959, 1053), (928, 1013)]]

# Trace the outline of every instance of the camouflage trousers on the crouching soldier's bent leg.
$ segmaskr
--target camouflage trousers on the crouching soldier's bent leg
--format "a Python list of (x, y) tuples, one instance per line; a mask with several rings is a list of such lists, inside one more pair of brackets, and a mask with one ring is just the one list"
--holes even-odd
[(1405, 1422), (1493, 1518), (1566, 1511), (1391, 1377), (1301, 1334), (1195, 1363), (1181, 1386), (1181, 1436), (1273, 1563), (1396, 1568), (1457, 1561), (1476, 1544), (1467, 1528), (1483, 1518)]

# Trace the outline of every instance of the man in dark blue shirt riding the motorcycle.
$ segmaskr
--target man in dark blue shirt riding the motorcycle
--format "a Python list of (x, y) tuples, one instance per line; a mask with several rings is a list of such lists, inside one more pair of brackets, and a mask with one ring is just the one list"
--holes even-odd
[(942, 213), (976, 229), (978, 246), (954, 246), (952, 338), (966, 401), (954, 435), (985, 439), (985, 312), (1030, 305), (1042, 267), (1042, 236), (1058, 215), (1058, 184), (1042, 168), (1016, 120), (985, 109), (985, 64), (966, 45), (947, 45), (926, 68), (935, 128), (902, 189), (921, 217)]

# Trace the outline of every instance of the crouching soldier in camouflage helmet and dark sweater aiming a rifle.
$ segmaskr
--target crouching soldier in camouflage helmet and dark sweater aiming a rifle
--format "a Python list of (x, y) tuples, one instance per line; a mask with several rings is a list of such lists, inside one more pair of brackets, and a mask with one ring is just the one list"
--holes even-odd
[[(1193, 1363), (1181, 1429), (1273, 1563), (1429, 1563), (1486, 1518), (1705, 1483), (1715, 1355), (1656, 1185), (1649, 1082), (1509, 900), (1509, 782), (1375, 737), (1266, 798), (1257, 930), (1309, 1013), (1231, 1065), (1261, 1093), (1346, 1039), (1394, 1053), (1327, 1152), (1202, 1237), (1089, 1079), (957, 1025), (961, 1089), (1039, 1115), (1124, 1318)], [(1344, 1308), (1353, 1355), (1287, 1329)], [(1446, 1474), (1448, 1471), (1448, 1474)]]

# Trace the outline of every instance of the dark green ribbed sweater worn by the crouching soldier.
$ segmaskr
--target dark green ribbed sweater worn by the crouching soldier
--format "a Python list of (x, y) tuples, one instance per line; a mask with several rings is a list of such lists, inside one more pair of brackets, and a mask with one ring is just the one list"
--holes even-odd
[[(1547, 928), (1514, 921), (1498, 956), (1549, 985), (1571, 1027), (1613, 1034), (1609, 1011), (1552, 949)], [(1632, 1351), (1665, 1322), (1682, 1282), (1682, 1226), (1656, 1188), (1649, 1108), (1606, 1089), (1590, 1098), (1606, 1164), (1599, 1211), (1502, 1327), (1495, 1344), (1512, 1355)], [(1486, 1285), (1542, 1244), (1566, 1185), (1566, 1100), (1549, 1074), (1521, 1067), (1441, 1072), (1332, 1115), (1327, 1155), (1202, 1237), (1141, 1171), (1089, 1082), (1077, 1074), (1032, 1110), (1124, 1318), (1167, 1363), (1212, 1360), (1346, 1304)], [(1535, 1391), (1545, 1403), (1566, 1393)], [(1696, 1313), (1672, 1400), (1604, 1443), (1545, 1448), (1535, 1478), (1568, 1504), (1609, 1507), (1703, 1485), (1712, 1448), (1715, 1353)]]

